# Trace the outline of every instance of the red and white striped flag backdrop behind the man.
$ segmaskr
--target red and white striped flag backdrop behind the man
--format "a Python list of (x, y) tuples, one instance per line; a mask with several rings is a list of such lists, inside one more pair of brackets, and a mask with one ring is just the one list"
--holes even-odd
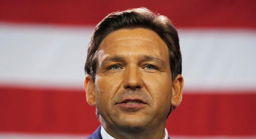
[(179, 30), (171, 138), (256, 138), (256, 1), (0, 0), (0, 138), (86, 138), (100, 125), (83, 70), (95, 25), (147, 7)]

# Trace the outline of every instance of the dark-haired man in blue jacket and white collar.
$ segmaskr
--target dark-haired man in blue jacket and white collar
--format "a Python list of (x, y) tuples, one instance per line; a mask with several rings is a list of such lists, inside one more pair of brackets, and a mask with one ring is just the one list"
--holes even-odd
[(183, 88), (177, 30), (146, 8), (114, 12), (89, 43), (84, 87), (101, 126), (89, 139), (167, 139)]

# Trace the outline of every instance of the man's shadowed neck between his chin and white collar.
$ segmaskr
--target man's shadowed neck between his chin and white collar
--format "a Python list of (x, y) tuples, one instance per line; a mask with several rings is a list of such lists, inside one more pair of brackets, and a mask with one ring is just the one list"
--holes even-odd
[(159, 125), (149, 125), (143, 129), (127, 130), (107, 124), (101, 116), (99, 121), (105, 131), (115, 139), (163, 139), (165, 136), (165, 122)]

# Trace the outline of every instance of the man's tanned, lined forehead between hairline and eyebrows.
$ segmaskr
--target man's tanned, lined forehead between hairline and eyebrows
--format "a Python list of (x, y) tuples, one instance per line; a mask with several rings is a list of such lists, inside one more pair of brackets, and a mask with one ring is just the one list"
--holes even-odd
[[(99, 60), (109, 55), (136, 56), (149, 54), (168, 59), (168, 47), (157, 33), (150, 29), (119, 29), (110, 33), (101, 42)], [(103, 56), (104, 55), (104, 56)]]

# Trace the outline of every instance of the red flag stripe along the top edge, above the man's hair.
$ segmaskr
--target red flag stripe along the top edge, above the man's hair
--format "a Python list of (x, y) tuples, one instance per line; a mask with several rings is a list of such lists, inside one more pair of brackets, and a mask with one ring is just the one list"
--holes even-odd
[(0, 21), (96, 25), (107, 14), (134, 7), (168, 16), (178, 27), (246, 27), (256, 28), (256, 1), (165, 1), (106, 0), (52, 1), (2, 0)]

